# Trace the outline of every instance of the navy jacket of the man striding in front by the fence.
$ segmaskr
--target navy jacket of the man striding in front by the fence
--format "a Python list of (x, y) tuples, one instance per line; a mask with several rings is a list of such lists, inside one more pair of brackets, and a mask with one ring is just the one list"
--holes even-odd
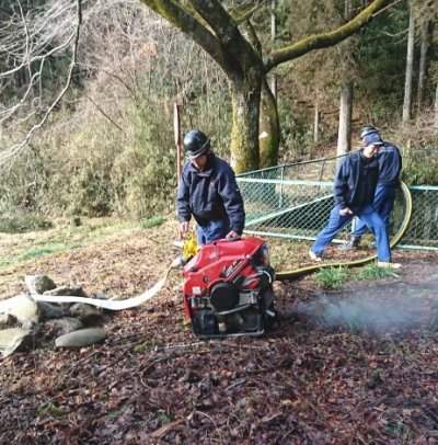
[(372, 204), (379, 175), (377, 159), (368, 160), (364, 150), (355, 151), (339, 162), (334, 178), (335, 203), (356, 212)]

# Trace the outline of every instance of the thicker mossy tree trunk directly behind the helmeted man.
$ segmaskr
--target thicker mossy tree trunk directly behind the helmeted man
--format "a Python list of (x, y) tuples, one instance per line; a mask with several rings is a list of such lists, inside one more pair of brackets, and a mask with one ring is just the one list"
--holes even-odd
[[(254, 73), (253, 73), (254, 75)], [(230, 82), (232, 103), (231, 167), (237, 173), (257, 170), (260, 167), (258, 118), (262, 95), (262, 76), (252, 83)]]

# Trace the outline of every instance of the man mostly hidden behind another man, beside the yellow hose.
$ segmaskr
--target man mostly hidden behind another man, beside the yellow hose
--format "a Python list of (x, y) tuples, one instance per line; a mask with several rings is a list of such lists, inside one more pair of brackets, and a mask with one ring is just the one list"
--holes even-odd
[[(360, 138), (364, 145), (369, 140), (378, 137), (379, 130), (373, 126), (366, 126), (360, 133)], [(389, 231), (390, 215), (394, 207), (395, 191), (400, 183), (400, 172), (402, 170), (402, 156), (400, 150), (394, 145), (382, 141), (379, 153), (377, 155), (379, 164), (379, 181), (376, 189), (373, 207), (383, 219)], [(341, 247), (341, 250), (357, 249), (360, 243), (361, 236), (367, 231), (367, 225), (358, 219), (354, 230), (350, 233), (350, 239)]]

